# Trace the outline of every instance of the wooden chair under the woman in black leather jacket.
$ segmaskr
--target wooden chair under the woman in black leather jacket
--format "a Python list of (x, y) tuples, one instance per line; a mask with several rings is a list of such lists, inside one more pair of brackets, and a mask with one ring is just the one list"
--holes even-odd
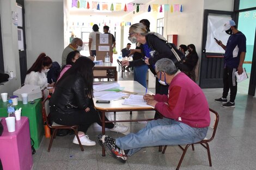
[(81, 150), (83, 151), (83, 146), (81, 144), (81, 141), (78, 137), (78, 133), (77, 133), (77, 129), (78, 129), (78, 125), (72, 125), (72, 126), (68, 126), (68, 125), (60, 125), (57, 124), (55, 122), (53, 122), (52, 124), (49, 122), (49, 114), (50, 114), (50, 105), (49, 105), (49, 100), (50, 100), (51, 96), (46, 97), (43, 101), (42, 101), (42, 114), (46, 117), (46, 124), (49, 128), (53, 129), (53, 133), (51, 136), (51, 141), (49, 143), (49, 147), (48, 147), (48, 152), (50, 152), (51, 147), (52, 147), (52, 142), (53, 142), (53, 138), (56, 137), (57, 134), (57, 130), (58, 129), (71, 129), (75, 132), (75, 135), (77, 137), (78, 143), (80, 145)]

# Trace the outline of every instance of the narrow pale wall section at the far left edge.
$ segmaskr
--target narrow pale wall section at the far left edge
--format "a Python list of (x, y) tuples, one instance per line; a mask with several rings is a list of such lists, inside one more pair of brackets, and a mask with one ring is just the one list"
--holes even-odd
[[(13, 24), (11, 11), (16, 11), (16, 1), (0, 1), (2, 42), (4, 56), (4, 70), (13, 71), (16, 78), (11, 83), (7, 82), (0, 86), (0, 92), (8, 92), (13, 95), (13, 91), (21, 86), (20, 80), (20, 60), (18, 50), (17, 26)], [(4, 87), (5, 86), (5, 87)]]

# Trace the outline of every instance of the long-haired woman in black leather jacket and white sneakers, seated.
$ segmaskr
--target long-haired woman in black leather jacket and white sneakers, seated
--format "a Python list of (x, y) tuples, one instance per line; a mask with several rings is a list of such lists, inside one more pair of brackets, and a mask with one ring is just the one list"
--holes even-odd
[[(50, 99), (53, 121), (62, 125), (79, 125), (78, 136), (84, 146), (96, 144), (85, 135), (90, 125), (95, 122), (101, 125), (93, 103), (93, 67), (94, 63), (89, 58), (78, 58), (57, 81)], [(106, 128), (120, 133), (128, 130), (124, 125), (113, 123), (106, 123)], [(78, 144), (76, 136), (73, 143)]]

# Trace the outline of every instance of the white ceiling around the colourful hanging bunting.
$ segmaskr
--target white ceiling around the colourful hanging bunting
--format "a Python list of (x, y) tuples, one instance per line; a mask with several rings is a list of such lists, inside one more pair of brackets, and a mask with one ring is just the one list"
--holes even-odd
[[(128, 3), (133, 3), (133, 4), (149, 4), (151, 1), (150, 0), (126, 0), (126, 1), (120, 1), (120, 0), (93, 0), (93, 1), (88, 1), (90, 4), (90, 8), (92, 8), (92, 2), (99, 2), (99, 3), (107, 3), (108, 4), (108, 9), (110, 8), (111, 4), (114, 4), (115, 8), (115, 3), (120, 3), (122, 4), (122, 7), (120, 11), (105, 11), (105, 10), (96, 10), (96, 9), (84, 9), (84, 8), (76, 8), (72, 7), (72, 0), (67, 0), (68, 1), (68, 7), (71, 15), (89, 15), (89, 16), (95, 16), (95, 15), (102, 15), (102, 16), (116, 16), (116, 17), (123, 17), (130, 12), (124, 11), (124, 5)], [(87, 1), (86, 1), (87, 3)], [(100, 7), (101, 8), (101, 7)], [(136, 9), (136, 7), (135, 7)], [(131, 11), (133, 12), (133, 11)], [(136, 11), (135, 11), (136, 12)]]

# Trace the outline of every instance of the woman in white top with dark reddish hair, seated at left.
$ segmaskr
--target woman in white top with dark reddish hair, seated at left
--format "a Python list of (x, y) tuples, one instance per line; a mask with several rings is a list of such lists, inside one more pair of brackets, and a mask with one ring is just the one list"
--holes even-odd
[[(52, 87), (54, 83), (48, 84), (46, 78), (46, 73), (50, 70), (51, 66), (52, 59), (45, 53), (41, 53), (32, 67), (27, 71), (25, 84), (40, 86), (41, 89)], [(49, 93), (52, 93), (52, 89), (49, 89), (48, 91)]]

